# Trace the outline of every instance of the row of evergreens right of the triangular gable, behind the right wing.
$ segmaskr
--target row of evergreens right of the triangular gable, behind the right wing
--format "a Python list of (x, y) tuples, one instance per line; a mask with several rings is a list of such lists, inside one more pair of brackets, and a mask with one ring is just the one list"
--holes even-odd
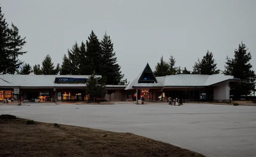
[(238, 45), (238, 49), (234, 50), (234, 57), (226, 57), (226, 65), (224, 71), (217, 68), (217, 63), (213, 57), (213, 53), (207, 50), (206, 55), (200, 60), (195, 62), (193, 71), (188, 71), (186, 67), (184, 69), (179, 66), (175, 67), (176, 60), (171, 55), (169, 61), (165, 61), (163, 56), (160, 58), (160, 62), (155, 66), (155, 76), (167, 76), (167, 75), (178, 75), (178, 74), (200, 74), (200, 75), (213, 75), (213, 74), (224, 74), (231, 75), (235, 78), (241, 79), (241, 81), (234, 86), (230, 87), (230, 95), (234, 95), (234, 98), (240, 96), (247, 96), (255, 94), (255, 83), (256, 75), (251, 70), (252, 65), (250, 60), (252, 59), (251, 52), (248, 52), (246, 45), (241, 42)]

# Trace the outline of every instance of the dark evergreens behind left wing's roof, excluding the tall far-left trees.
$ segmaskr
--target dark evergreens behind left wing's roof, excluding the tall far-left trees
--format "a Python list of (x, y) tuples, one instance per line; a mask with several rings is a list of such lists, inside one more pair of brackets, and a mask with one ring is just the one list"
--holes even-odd
[[(77, 42), (67, 54), (62, 57), (62, 65), (58, 63), (53, 66), (50, 55), (47, 55), (40, 64), (34, 65), (33, 70), (30, 65), (23, 65), (19, 74), (27, 74), (31, 71), (35, 75), (102, 75), (101, 81), (108, 85), (125, 85), (127, 79), (123, 80), (121, 66), (117, 63), (117, 57), (114, 52), (114, 46), (106, 33), (101, 41), (92, 31), (86, 43), (83, 41), (80, 45)], [(25, 70), (26, 69), (26, 70)]]

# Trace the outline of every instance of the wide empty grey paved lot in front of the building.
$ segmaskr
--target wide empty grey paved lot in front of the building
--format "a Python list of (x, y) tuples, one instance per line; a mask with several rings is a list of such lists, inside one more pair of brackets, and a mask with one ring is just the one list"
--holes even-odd
[(212, 157), (256, 156), (256, 106), (27, 103), (0, 105), (0, 114), (132, 132)]

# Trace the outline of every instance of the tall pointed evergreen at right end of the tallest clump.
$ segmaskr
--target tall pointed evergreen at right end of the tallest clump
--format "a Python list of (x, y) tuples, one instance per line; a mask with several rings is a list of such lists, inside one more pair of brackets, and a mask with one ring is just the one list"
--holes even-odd
[(124, 75), (122, 75), (121, 66), (117, 63), (117, 57), (114, 52), (114, 43), (112, 43), (110, 36), (103, 36), (101, 40), (102, 47), (102, 71), (101, 75), (106, 78), (106, 84), (108, 85), (117, 85), (127, 83), (126, 80), (122, 80)]

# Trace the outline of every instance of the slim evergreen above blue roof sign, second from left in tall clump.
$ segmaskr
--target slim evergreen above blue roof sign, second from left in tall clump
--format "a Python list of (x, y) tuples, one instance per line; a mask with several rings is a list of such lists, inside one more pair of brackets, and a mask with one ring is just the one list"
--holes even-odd
[(79, 63), (80, 63), (80, 48), (75, 42), (75, 44), (72, 46), (72, 49), (68, 49), (68, 56), (70, 60), (70, 73), (71, 75), (79, 75)]

